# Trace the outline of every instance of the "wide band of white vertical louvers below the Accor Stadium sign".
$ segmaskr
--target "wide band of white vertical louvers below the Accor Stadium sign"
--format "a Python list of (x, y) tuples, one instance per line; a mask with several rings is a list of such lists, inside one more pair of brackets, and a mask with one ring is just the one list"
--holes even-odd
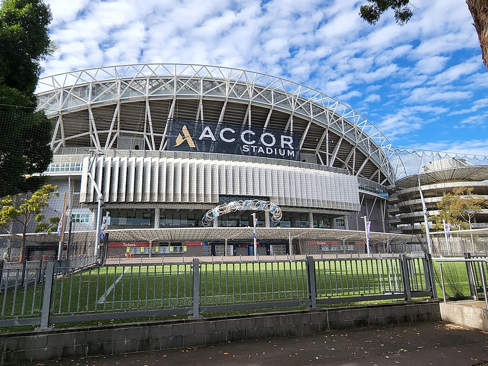
[[(95, 202), (83, 162), (80, 202)], [(217, 203), (219, 195), (269, 197), (282, 206), (358, 210), (357, 178), (335, 172), (187, 158), (99, 157), (92, 166), (106, 202)]]

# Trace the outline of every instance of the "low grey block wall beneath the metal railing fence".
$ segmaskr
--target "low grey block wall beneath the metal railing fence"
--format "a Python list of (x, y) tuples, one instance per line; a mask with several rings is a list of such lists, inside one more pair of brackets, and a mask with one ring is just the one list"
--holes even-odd
[(441, 319), (438, 301), (0, 334), (0, 364), (121, 354)]

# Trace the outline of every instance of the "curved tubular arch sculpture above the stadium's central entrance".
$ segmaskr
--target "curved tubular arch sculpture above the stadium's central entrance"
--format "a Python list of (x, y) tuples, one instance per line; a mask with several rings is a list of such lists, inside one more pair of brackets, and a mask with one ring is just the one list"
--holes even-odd
[(229, 214), (235, 211), (269, 211), (272, 215), (271, 222), (275, 225), (279, 224), (282, 217), (282, 212), (280, 206), (269, 202), (260, 200), (245, 200), (245, 201), (232, 201), (229, 203), (224, 203), (208, 210), (203, 216), (202, 223), (207, 226), (215, 218)]

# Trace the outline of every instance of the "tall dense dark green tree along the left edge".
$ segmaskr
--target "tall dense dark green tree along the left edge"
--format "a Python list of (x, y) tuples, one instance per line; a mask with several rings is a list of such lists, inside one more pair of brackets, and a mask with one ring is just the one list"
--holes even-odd
[(39, 189), (52, 159), (52, 125), (34, 95), (40, 61), (53, 50), (51, 19), (41, 0), (0, 6), (0, 197)]

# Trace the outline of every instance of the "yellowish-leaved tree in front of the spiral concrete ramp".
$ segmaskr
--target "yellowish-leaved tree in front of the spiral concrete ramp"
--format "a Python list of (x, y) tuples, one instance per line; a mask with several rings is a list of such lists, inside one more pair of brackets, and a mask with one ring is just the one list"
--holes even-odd
[(440, 219), (446, 220), (450, 224), (459, 224), (464, 221), (469, 224), (471, 229), (471, 220), (481, 211), (488, 201), (484, 198), (473, 194), (473, 187), (455, 187), (452, 192), (448, 192), (437, 207), (441, 210)]

